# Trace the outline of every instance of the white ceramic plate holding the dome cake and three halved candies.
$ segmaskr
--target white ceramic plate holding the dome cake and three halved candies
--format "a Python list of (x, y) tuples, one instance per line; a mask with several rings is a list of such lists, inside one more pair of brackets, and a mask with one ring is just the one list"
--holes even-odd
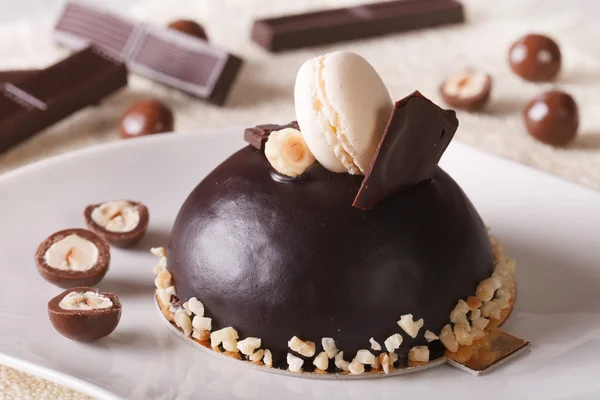
[[(443, 166), (518, 260), (519, 298), (504, 328), (532, 351), (487, 376), (448, 366), (365, 381), (291, 378), (221, 360), (178, 340), (153, 302), (152, 246), (202, 177), (244, 145), (239, 129), (173, 134), (92, 148), (0, 178), (0, 362), (98, 399), (588, 399), (600, 396), (600, 194), (453, 143)], [(33, 255), (54, 231), (82, 227), (85, 205), (144, 201), (150, 230), (114, 250), (100, 283), (116, 292), (116, 331), (85, 345), (54, 331), (60, 289)]]

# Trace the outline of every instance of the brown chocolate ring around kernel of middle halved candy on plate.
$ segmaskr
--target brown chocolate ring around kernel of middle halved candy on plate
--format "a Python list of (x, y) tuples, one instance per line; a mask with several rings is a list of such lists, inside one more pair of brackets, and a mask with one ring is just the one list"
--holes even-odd
[[(46, 251), (54, 243), (65, 237), (75, 234), (83, 239), (89, 240), (94, 243), (98, 248), (98, 261), (92, 268), (86, 271), (70, 271), (52, 268), (46, 264), (44, 256)], [(94, 232), (85, 229), (65, 229), (56, 233), (53, 233), (46, 238), (38, 246), (35, 252), (35, 263), (38, 272), (48, 282), (55, 284), (62, 288), (72, 288), (76, 286), (93, 286), (100, 282), (108, 268), (110, 266), (110, 246), (108, 242), (95, 234)]]

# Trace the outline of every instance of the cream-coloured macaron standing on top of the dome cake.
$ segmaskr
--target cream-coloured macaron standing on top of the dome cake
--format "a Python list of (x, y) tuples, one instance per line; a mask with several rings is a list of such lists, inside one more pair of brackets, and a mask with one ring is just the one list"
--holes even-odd
[(333, 172), (364, 175), (392, 112), (392, 99), (364, 58), (336, 51), (298, 72), (296, 118), (315, 158)]

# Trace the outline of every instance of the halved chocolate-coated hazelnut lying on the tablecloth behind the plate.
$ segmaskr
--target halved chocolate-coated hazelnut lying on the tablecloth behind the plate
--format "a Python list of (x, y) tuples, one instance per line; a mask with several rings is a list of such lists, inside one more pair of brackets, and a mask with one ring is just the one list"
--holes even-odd
[(451, 75), (440, 86), (440, 95), (446, 104), (467, 111), (483, 107), (491, 93), (492, 77), (470, 69)]

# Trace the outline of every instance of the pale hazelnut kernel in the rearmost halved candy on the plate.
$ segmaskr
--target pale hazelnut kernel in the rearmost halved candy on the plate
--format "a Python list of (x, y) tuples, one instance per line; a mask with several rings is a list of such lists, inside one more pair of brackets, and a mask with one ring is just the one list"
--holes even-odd
[(140, 223), (140, 213), (125, 200), (109, 201), (94, 208), (92, 220), (109, 232), (131, 232)]

